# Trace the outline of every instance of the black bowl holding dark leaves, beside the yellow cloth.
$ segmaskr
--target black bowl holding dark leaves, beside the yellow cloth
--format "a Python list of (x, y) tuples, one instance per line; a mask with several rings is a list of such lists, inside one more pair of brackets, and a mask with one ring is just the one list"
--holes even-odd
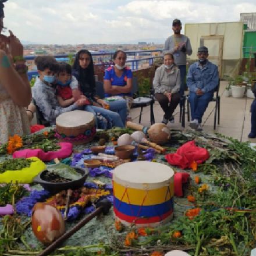
[(70, 182), (62, 182), (62, 183), (53, 183), (46, 182), (44, 180), (45, 174), (48, 172), (47, 170), (43, 170), (39, 175), (37, 175), (33, 182), (37, 182), (40, 184), (45, 190), (49, 191), (51, 194), (56, 194), (59, 191), (67, 190), (67, 189), (77, 189), (79, 187), (83, 187), (84, 182), (86, 181), (89, 170), (87, 168), (73, 167), (76, 172), (81, 173), (82, 177), (78, 180), (72, 180)]

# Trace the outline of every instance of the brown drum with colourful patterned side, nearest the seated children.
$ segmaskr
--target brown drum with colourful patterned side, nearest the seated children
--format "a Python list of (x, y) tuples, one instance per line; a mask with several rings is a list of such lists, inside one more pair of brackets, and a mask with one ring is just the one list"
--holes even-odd
[(56, 118), (55, 136), (62, 142), (74, 145), (88, 143), (96, 134), (93, 113), (86, 111), (70, 111)]

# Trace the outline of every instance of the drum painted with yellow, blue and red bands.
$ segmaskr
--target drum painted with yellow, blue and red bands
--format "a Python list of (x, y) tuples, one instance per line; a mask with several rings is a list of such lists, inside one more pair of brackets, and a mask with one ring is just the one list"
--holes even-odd
[(129, 162), (113, 171), (113, 211), (128, 226), (156, 227), (173, 217), (174, 172), (155, 162)]

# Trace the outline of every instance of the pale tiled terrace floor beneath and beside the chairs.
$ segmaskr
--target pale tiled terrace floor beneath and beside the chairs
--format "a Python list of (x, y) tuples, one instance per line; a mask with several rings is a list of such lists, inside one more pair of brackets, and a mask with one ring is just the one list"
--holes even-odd
[[(207, 132), (217, 132), (226, 136), (237, 138), (239, 141), (250, 140), (252, 143), (256, 143), (256, 138), (248, 138), (248, 133), (251, 129), (251, 113), (250, 106), (253, 102), (253, 98), (232, 98), (225, 97), (225, 87), (227, 86), (227, 81), (221, 81), (221, 87), (219, 89), (219, 95), (221, 96), (221, 115), (220, 123), (216, 126), (214, 130), (214, 109), (215, 102), (210, 102), (207, 111), (205, 111), (204, 117), (202, 119), (203, 130)], [(187, 122), (186, 113), (186, 124), (185, 128), (182, 127), (179, 122), (179, 106), (176, 108), (174, 113), (175, 123), (168, 123), (168, 127), (173, 129), (190, 129), (189, 122)], [(138, 123), (140, 115), (140, 108), (131, 109), (131, 116), (133, 122)], [(163, 111), (161, 106), (156, 102), (154, 104), (154, 115), (155, 122), (161, 122), (163, 117)], [(150, 106), (143, 108), (143, 115), (141, 116), (141, 125), (150, 126)]]

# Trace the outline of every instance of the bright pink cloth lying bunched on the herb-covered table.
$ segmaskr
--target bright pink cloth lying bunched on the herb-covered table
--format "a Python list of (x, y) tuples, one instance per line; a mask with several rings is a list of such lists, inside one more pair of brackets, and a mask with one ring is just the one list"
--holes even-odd
[(55, 158), (63, 159), (70, 157), (73, 152), (73, 145), (71, 143), (60, 142), (61, 150), (44, 152), (41, 149), (37, 150), (20, 150), (12, 154), (12, 158), (30, 158), (37, 157), (43, 162), (52, 161)]

